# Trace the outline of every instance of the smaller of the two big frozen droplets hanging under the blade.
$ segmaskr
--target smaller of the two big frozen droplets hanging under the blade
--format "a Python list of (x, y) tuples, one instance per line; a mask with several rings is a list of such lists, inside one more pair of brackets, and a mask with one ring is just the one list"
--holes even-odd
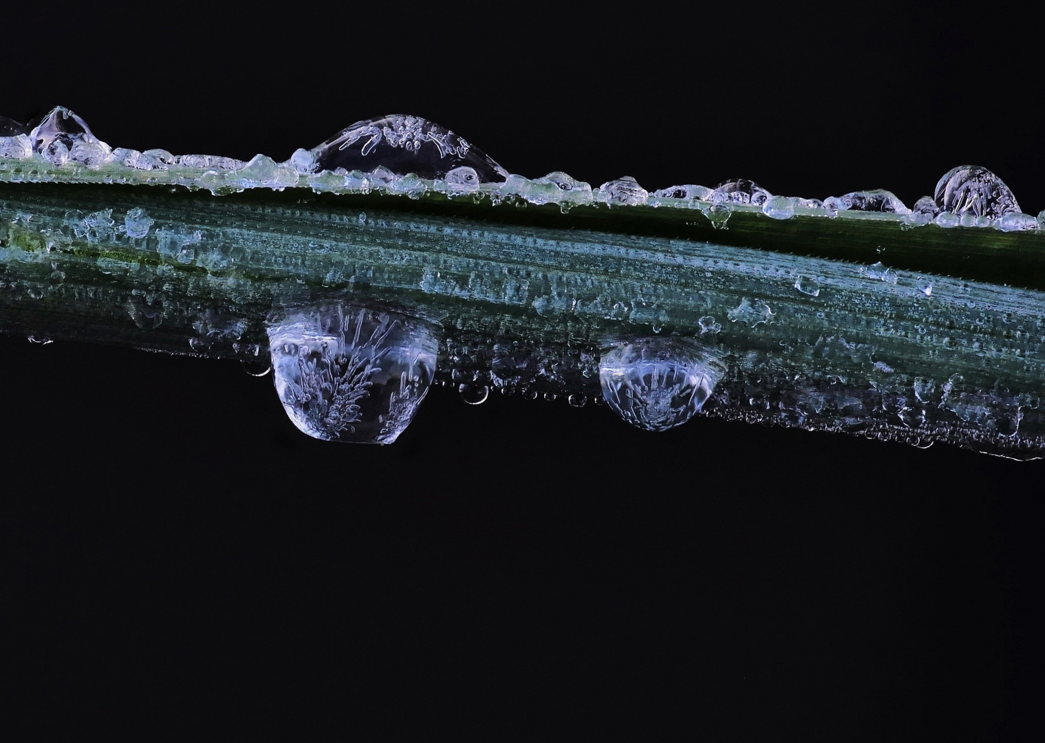
[(606, 403), (645, 431), (668, 431), (688, 421), (707, 401), (720, 375), (710, 353), (680, 339), (621, 343), (599, 362)]

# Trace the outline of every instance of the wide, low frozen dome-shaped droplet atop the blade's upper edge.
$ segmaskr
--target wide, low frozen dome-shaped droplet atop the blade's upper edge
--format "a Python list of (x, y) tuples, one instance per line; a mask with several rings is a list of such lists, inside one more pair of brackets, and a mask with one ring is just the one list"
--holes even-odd
[(480, 183), (500, 183), (508, 171), (470, 142), (445, 126), (420, 116), (392, 114), (357, 121), (311, 149), (312, 160), (296, 153), (294, 165), (301, 171), (362, 170), (378, 165), (397, 176), (445, 178), (462, 166), (471, 167)]

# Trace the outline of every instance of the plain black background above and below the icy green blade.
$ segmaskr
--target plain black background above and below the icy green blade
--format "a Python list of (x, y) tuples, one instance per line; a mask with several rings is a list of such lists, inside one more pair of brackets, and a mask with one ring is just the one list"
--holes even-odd
[[(0, 113), (61, 103), (113, 146), (277, 160), (412, 113), (530, 177), (908, 205), (973, 163), (1045, 208), (1018, 19), (653, 7), (63, 15), (14, 34)], [(88, 698), (154, 734), (212, 709), (350, 732), (371, 699), (385, 724), (495, 738), (554, 712), (738, 739), (1042, 732), (1039, 463), (701, 419), (649, 435), (443, 389), (393, 446), (324, 444), (235, 364), (0, 348), (3, 675), (37, 729)]]

